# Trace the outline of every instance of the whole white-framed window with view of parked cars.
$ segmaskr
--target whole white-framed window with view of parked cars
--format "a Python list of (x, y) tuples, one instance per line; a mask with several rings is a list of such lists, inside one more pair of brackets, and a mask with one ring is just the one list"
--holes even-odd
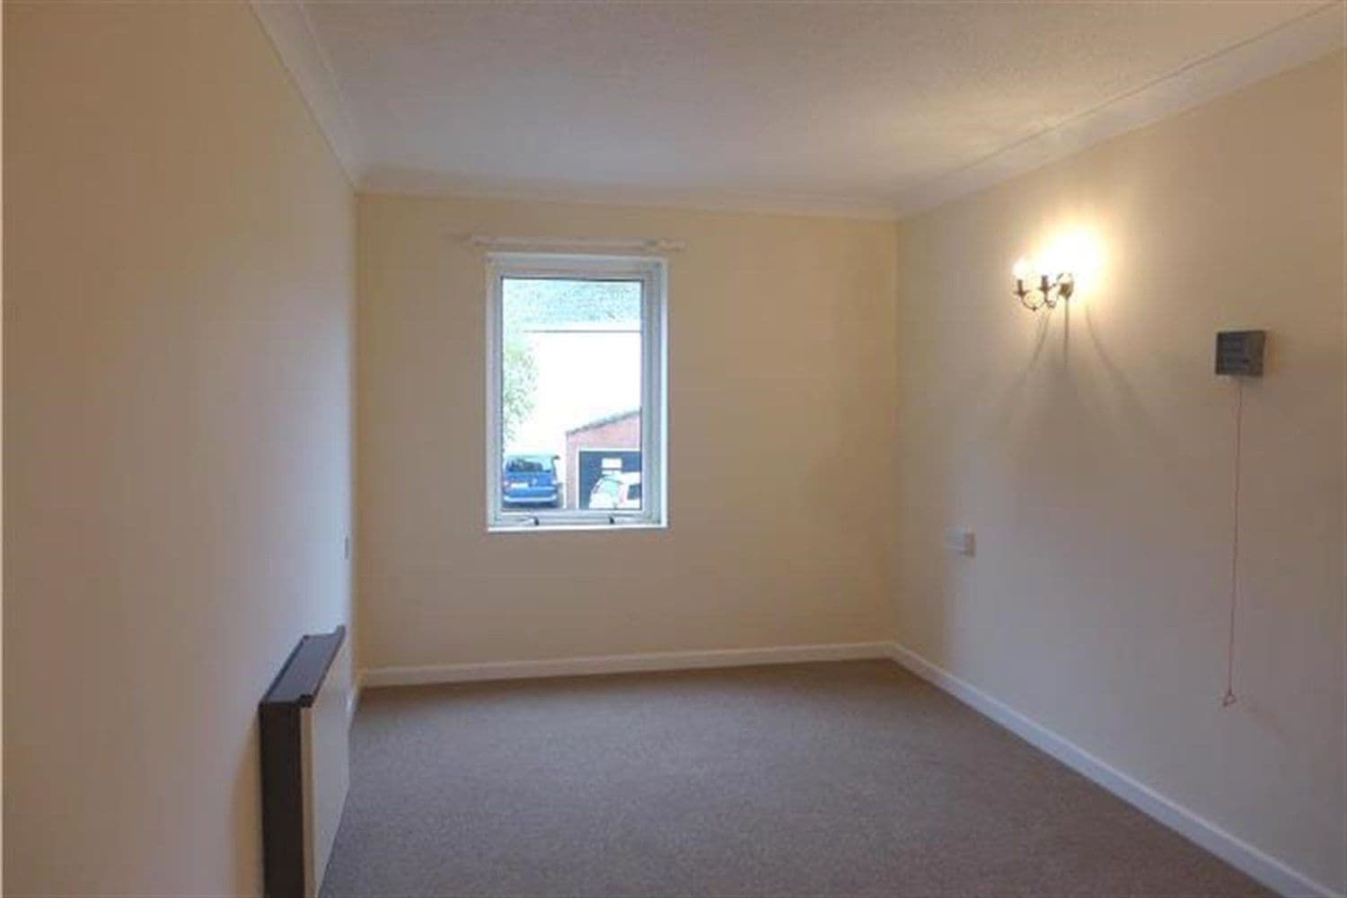
[(493, 530), (664, 524), (664, 261), (488, 256)]

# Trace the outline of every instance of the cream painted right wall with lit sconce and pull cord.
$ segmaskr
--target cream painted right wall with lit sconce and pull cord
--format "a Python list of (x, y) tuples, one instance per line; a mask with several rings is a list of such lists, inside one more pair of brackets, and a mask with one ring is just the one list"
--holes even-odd
[[(908, 648), (1338, 891), (1343, 108), (1339, 54), (904, 222), (889, 452)], [(1020, 308), (1012, 263), (1070, 233), (1082, 296)], [(1270, 343), (1222, 711), (1238, 327)]]

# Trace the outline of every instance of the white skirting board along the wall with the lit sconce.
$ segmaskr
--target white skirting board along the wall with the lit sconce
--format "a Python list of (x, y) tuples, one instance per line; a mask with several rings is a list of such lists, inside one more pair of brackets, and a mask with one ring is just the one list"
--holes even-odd
[(1152, 819), (1191, 839), (1226, 863), (1249, 874), (1282, 895), (1338, 895), (1332, 889), (1254, 848), (1216, 824), (1167, 798), (1150, 786), (1109, 766), (1074, 742), (993, 699), (975, 685), (901, 645), (893, 646), (893, 660), (979, 714), (999, 723), (1025, 742), (1048, 753), (1076, 773), (1088, 777)]

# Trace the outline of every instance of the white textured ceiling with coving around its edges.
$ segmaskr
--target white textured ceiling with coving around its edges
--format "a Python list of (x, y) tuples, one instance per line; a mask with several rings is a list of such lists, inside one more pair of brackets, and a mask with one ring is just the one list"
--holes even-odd
[(880, 214), (1325, 53), (1343, 19), (1320, 0), (255, 5), (365, 188)]

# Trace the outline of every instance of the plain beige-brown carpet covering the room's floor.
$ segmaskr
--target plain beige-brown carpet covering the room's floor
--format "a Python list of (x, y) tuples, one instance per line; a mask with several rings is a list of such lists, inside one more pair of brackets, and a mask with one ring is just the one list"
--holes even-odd
[(370, 689), (323, 894), (1261, 895), (885, 661)]

